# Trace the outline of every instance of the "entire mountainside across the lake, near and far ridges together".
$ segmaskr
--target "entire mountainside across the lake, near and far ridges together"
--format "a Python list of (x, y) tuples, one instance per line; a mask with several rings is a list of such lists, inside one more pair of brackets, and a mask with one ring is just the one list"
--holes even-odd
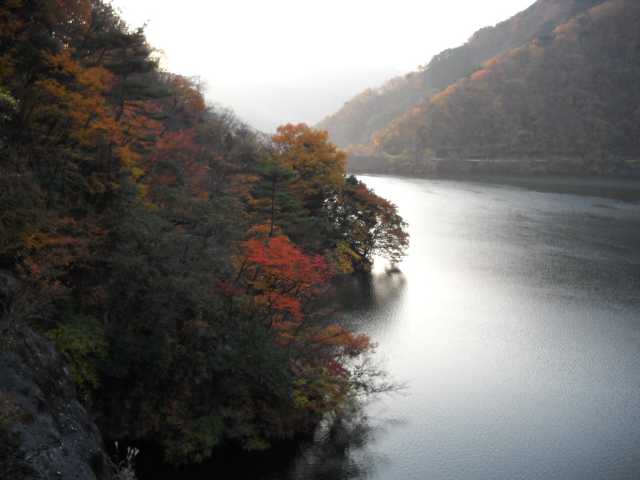
[[(322, 127), (354, 172), (639, 175), (638, 25), (636, 0), (539, 0)], [(418, 77), (420, 100), (383, 108)]]

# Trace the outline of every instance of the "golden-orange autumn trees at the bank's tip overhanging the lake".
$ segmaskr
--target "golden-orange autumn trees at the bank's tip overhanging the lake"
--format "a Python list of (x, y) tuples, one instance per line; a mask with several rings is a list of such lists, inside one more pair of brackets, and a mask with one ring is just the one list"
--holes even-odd
[[(283, 218), (279, 226), (285, 234), (299, 239), (308, 249), (328, 254), (342, 272), (369, 270), (375, 256), (391, 263), (402, 258), (408, 238), (396, 207), (362, 182), (346, 176), (346, 155), (329, 142), (326, 132), (304, 124), (285, 125), (278, 129), (273, 142), (276, 155), (271, 173), (280, 172), (282, 177), (283, 172), (290, 171), (295, 177), (280, 182), (276, 188), (278, 177), (270, 176), (274, 193), (271, 205), (275, 209), (279, 203), (276, 199), (282, 203), (293, 196), (306, 209), (303, 235), (298, 236), (299, 232), (285, 226)], [(262, 191), (268, 191), (266, 180), (263, 176), (257, 184)], [(260, 196), (261, 202), (268, 205), (269, 196)], [(299, 223), (304, 224), (300, 220)]]

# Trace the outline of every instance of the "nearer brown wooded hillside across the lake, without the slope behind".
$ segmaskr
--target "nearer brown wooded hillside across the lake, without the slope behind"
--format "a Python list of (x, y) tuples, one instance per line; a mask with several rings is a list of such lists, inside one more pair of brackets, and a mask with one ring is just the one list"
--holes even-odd
[[(593, 7), (396, 119), (376, 134), (374, 156), (394, 171), (497, 159), (496, 170), (502, 161), (514, 171), (631, 172), (640, 158), (638, 25), (636, 1)], [(460, 159), (480, 162), (453, 167)]]

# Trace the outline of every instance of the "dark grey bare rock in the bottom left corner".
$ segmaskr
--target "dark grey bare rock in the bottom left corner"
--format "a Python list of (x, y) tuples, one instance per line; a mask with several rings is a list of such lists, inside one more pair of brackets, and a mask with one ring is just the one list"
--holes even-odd
[(0, 479), (107, 480), (110, 472), (60, 355), (29, 327), (0, 319)]

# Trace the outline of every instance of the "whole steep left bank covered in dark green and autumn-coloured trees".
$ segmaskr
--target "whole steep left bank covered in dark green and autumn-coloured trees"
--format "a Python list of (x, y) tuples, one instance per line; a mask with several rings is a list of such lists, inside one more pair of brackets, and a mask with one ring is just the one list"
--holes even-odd
[(22, 285), (0, 317), (55, 342), (108, 439), (199, 462), (384, 388), (321, 306), (407, 237), (326, 133), (208, 107), (101, 0), (2, 2), (0, 127), (0, 268)]

